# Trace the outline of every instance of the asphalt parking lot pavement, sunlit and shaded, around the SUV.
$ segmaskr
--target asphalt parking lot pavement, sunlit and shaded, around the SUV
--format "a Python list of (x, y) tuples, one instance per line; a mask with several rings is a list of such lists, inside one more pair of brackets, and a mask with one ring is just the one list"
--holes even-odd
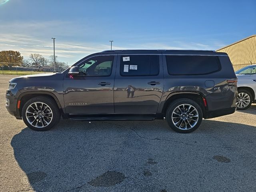
[(0, 191), (256, 191), (256, 104), (178, 134), (165, 120), (60, 120), (35, 132), (6, 111), (0, 75)]

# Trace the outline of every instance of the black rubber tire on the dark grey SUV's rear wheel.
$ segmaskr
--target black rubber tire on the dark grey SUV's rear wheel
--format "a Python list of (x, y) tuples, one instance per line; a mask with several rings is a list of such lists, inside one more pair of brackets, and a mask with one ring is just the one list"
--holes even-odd
[[(187, 124), (187, 122), (188, 122), (188, 129), (183, 129), (182, 128), (182, 126), (180, 127), (180, 128), (178, 128), (178, 127), (176, 127), (176, 125), (174, 124), (174, 120), (176, 120), (176, 118), (174, 119), (174, 120), (172, 120), (172, 115), (174, 115), (174, 117), (176, 117), (176, 114), (173, 114), (173, 112), (176, 112), (176, 113), (178, 113), (178, 111), (180, 111), (179, 109), (178, 109), (178, 106), (180, 106), (180, 108), (183, 108), (181, 105), (185, 105), (185, 112), (184, 112), (184, 115), (186, 114), (186, 110), (188, 110), (188, 107), (189, 107), (189, 105), (190, 106), (192, 106), (192, 107), (194, 107), (196, 110), (194, 110), (194, 112), (192, 112), (191, 110), (189, 110), (190, 112), (187, 114), (187, 115), (190, 115), (191, 114), (191, 116), (193, 116), (194, 114), (192, 114), (192, 113), (198, 113), (198, 118), (196, 118), (196, 116), (193, 116), (192, 118), (190, 118), (191, 116), (187, 116), (188, 117), (188, 119), (184, 119), (184, 122)], [(191, 109), (193, 109), (191, 107)], [(178, 110), (178, 111), (177, 111)], [(181, 112), (182, 113), (182, 112)], [(182, 114), (180, 114), (180, 115), (182, 115)], [(186, 115), (185, 115), (186, 116)], [(184, 116), (184, 118), (185, 118), (185, 116)], [(183, 116), (182, 117), (177, 117), (177, 122), (179, 121), (179, 120), (182, 120), (182, 118), (183, 118)], [(192, 119), (194, 118), (194, 120), (197, 120), (197, 122), (196, 123), (194, 123), (195, 121), (193, 120), (192, 121)], [(172, 130), (174, 130), (174, 131), (176, 131), (176, 132), (178, 132), (178, 133), (191, 133), (191, 132), (193, 132), (194, 130), (196, 130), (199, 126), (200, 126), (200, 124), (201, 124), (201, 122), (202, 122), (202, 119), (203, 119), (203, 113), (202, 113), (202, 109), (201, 109), (201, 107), (198, 105), (198, 103), (196, 103), (195, 101), (193, 101), (193, 100), (190, 100), (190, 99), (186, 99), (186, 98), (181, 98), (181, 99), (177, 99), (177, 100), (174, 100), (169, 106), (168, 106), (168, 108), (167, 108), (167, 110), (166, 110), (166, 120), (167, 120), (167, 122), (168, 122), (168, 124), (169, 124), (169, 126), (170, 126), (170, 128), (172, 128)], [(181, 124), (183, 123), (183, 125), (184, 125), (184, 122), (183, 122), (183, 120), (182, 120), (182, 122), (181, 122)], [(192, 122), (192, 123), (191, 123)], [(191, 124), (193, 124), (194, 123), (194, 126), (190, 126), (190, 123)], [(177, 124), (177, 126), (178, 126), (179, 124)], [(190, 126), (190, 127), (189, 127)], [(186, 128), (187, 128), (187, 126), (186, 126)]]

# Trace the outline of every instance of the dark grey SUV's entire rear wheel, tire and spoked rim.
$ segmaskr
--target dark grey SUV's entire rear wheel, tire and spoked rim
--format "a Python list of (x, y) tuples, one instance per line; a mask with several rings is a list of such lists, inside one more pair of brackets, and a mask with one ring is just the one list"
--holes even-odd
[(190, 99), (177, 99), (166, 110), (166, 120), (174, 131), (190, 133), (202, 122), (203, 114), (200, 106)]

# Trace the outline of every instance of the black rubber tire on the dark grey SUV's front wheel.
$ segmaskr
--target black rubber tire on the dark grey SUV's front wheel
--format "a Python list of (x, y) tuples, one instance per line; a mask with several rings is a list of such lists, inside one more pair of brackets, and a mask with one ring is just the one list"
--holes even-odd
[[(30, 124), (28, 122), (28, 120), (27, 120), (27, 117), (26, 117), (26, 113), (28, 114), (28, 112), (27, 112), (28, 106), (30, 106), (32, 104), (32, 108), (35, 108), (35, 105), (34, 105), (35, 102), (42, 102), (42, 103), (46, 104), (50, 108), (50, 110), (51, 110), (50, 111), (49, 108), (46, 109), (45, 105), (41, 107), (41, 110), (43, 110), (42, 108), (45, 107), (46, 110), (51, 112), (51, 115), (50, 115), (51, 118), (48, 118), (47, 116), (44, 116), (44, 117), (46, 117), (46, 119), (49, 119), (48, 122), (44, 121), (44, 124), (42, 123), (42, 119), (40, 119), (40, 117), (38, 117), (36, 113), (34, 114), (34, 112), (33, 112), (32, 116), (29, 117), (29, 120), (30, 120), (30, 118), (32, 118), (31, 121), (35, 120), (35, 123), (38, 120), (39, 120), (38, 122), (40, 123), (40, 120), (41, 120), (41, 125), (44, 126), (44, 127), (41, 127), (41, 128), (38, 128), (38, 127)], [(40, 108), (40, 105), (38, 106), (38, 108)], [(30, 109), (31, 109), (31, 107), (30, 107)], [(47, 97), (47, 96), (38, 96), (38, 97), (31, 98), (30, 100), (28, 100), (24, 104), (24, 106), (22, 108), (22, 119), (23, 119), (24, 123), (30, 129), (35, 130), (35, 131), (47, 131), (47, 130), (50, 130), (55, 124), (57, 124), (60, 121), (60, 116), (61, 116), (60, 109), (58, 108), (58, 105), (56, 104), (55, 100), (53, 100), (52, 98)], [(38, 117), (38, 118), (36, 118), (36, 117)], [(49, 123), (49, 124), (47, 125), (47, 123)]]

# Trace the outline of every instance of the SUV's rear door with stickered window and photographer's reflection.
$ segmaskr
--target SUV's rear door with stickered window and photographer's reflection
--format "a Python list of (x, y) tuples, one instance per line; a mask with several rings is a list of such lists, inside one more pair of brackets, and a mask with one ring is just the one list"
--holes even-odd
[(114, 82), (115, 113), (156, 113), (163, 89), (161, 52), (118, 55)]

